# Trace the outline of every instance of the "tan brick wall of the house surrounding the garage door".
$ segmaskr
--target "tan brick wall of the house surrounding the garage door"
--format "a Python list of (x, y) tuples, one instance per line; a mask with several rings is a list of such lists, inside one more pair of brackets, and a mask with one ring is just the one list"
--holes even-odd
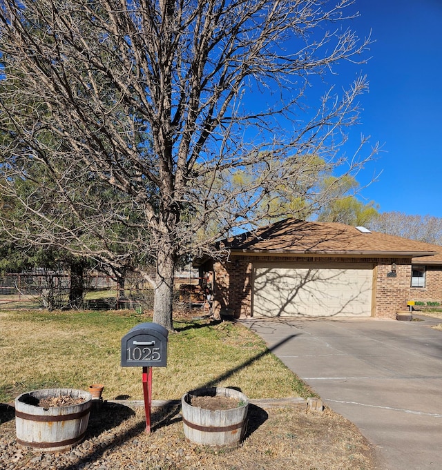
[[(253, 262), (354, 262), (371, 263), (374, 266), (372, 316), (394, 319), (397, 311), (407, 310), (408, 300), (442, 300), (442, 268), (428, 268), (425, 288), (412, 288), (411, 260), (409, 258), (336, 258), (336, 257), (287, 257), (287, 256), (239, 256), (231, 262), (215, 262), (214, 310), (230, 312), (235, 317), (251, 315)], [(392, 276), (392, 263), (396, 263), (396, 276)], [(419, 298), (418, 298), (419, 297)]]

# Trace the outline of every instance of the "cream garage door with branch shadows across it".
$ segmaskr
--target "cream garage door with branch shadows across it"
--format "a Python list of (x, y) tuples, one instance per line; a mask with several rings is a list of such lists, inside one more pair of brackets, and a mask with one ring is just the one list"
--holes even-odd
[(368, 264), (253, 265), (253, 316), (370, 316)]

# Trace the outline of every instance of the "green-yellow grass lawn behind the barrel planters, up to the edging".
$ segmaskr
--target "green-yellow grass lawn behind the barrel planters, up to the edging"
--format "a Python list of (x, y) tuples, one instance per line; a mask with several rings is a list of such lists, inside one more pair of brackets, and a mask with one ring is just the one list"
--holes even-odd
[[(40, 388), (104, 383), (104, 398), (142, 399), (142, 368), (120, 366), (122, 337), (151, 318), (135, 311), (0, 311), (0, 401)], [(153, 399), (200, 386), (234, 386), (249, 398), (311, 392), (241, 324), (175, 320), (166, 367), (153, 369)]]

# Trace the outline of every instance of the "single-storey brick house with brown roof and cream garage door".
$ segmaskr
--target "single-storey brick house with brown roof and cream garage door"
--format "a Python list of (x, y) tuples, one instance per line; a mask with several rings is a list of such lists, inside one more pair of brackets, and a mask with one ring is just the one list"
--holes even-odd
[(442, 300), (442, 246), (298, 219), (220, 243), (227, 260), (199, 263), (215, 313), (395, 318), (411, 300)]

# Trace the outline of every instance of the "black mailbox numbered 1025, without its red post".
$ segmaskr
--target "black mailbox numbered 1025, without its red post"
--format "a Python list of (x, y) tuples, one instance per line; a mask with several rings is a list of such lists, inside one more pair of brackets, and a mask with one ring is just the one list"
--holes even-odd
[(122, 337), (122, 366), (165, 367), (167, 331), (157, 323), (140, 323)]

